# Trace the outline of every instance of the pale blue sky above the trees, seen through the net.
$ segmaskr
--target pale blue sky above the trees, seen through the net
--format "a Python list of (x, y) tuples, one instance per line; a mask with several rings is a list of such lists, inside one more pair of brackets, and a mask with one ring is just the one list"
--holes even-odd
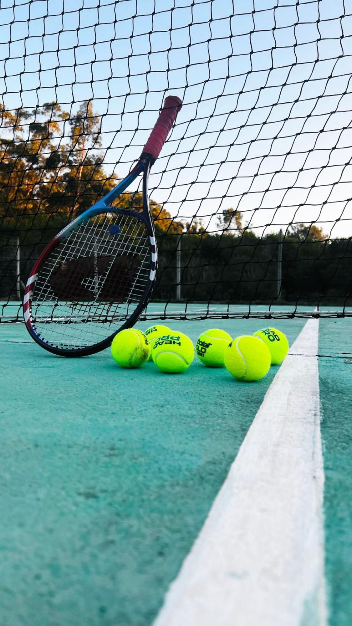
[(166, 95), (179, 113), (150, 177), (175, 217), (257, 234), (352, 236), (350, 0), (1, 0), (3, 106), (91, 99), (124, 177)]

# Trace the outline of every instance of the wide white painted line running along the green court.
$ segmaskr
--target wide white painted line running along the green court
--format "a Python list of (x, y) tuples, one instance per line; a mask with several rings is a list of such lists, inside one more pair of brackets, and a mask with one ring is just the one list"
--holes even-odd
[(319, 321), (294, 342), (155, 626), (323, 626)]

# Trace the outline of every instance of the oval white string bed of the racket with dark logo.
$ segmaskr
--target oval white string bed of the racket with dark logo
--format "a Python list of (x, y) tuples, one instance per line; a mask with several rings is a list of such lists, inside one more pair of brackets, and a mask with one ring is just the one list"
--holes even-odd
[(82, 223), (39, 272), (33, 326), (53, 346), (73, 349), (103, 341), (138, 306), (150, 261), (147, 228), (137, 217), (105, 213)]

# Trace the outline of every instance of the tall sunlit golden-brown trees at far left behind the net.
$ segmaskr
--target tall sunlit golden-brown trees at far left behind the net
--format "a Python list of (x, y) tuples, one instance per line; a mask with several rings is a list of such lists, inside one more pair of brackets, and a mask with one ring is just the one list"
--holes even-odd
[(0, 227), (37, 230), (41, 240), (51, 239), (115, 183), (95, 152), (99, 118), (90, 101), (71, 118), (55, 103), (1, 113)]

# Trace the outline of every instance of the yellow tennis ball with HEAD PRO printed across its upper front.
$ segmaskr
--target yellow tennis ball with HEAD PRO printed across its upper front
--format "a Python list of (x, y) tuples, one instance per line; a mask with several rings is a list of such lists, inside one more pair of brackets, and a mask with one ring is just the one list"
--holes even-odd
[(152, 348), (155, 365), (162, 372), (184, 372), (194, 359), (194, 347), (190, 338), (182, 332), (168, 331), (157, 337)]

